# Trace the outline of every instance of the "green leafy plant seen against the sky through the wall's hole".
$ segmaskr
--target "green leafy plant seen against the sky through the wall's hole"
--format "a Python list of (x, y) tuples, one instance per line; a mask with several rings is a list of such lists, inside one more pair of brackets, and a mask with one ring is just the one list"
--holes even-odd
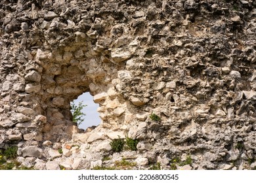
[(87, 105), (83, 105), (83, 101), (79, 102), (78, 105), (75, 105), (74, 102), (71, 104), (71, 112), (73, 116), (73, 122), (77, 123), (77, 125), (80, 125), (83, 122), (83, 116), (86, 114), (82, 112), (84, 107), (87, 107)]

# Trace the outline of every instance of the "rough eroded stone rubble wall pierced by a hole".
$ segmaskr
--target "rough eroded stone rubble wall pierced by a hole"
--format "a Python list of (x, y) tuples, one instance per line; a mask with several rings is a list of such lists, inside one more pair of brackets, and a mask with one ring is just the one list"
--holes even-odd
[[(0, 25), (0, 148), (22, 165), (256, 167), (255, 1), (3, 0)], [(84, 92), (102, 122), (79, 133)]]

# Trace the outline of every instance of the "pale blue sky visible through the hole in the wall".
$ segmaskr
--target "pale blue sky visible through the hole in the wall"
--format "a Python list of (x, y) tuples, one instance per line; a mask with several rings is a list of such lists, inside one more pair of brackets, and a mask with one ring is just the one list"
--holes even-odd
[(83, 113), (86, 114), (84, 116), (84, 120), (79, 125), (79, 128), (87, 129), (92, 125), (98, 125), (101, 122), (99, 117), (99, 113), (97, 112), (97, 108), (99, 107), (98, 104), (94, 103), (93, 96), (90, 95), (89, 92), (83, 93), (77, 99), (74, 100), (75, 105), (78, 105), (80, 101), (83, 101), (83, 105), (87, 105), (87, 107), (83, 108)]

